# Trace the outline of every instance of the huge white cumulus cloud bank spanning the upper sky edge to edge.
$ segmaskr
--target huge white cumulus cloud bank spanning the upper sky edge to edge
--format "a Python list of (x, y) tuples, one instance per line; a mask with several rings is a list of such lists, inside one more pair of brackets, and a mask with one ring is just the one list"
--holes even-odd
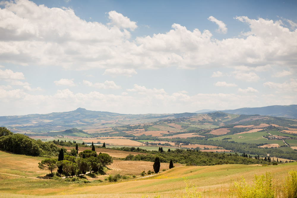
[[(0, 9), (3, 63), (78, 70), (296, 66), (297, 31), (290, 31), (279, 21), (238, 16), (235, 19), (250, 29), (248, 36), (241, 38), (218, 40), (208, 30), (189, 31), (174, 23), (165, 34), (129, 40), (130, 31), (137, 25), (116, 11), (108, 13), (110, 24), (105, 25), (86, 22), (70, 8), (37, 6), (28, 0), (3, 4), (5, 8)], [(209, 20), (219, 23), (212, 17)], [(219, 24), (224, 32), (224, 24)]]

